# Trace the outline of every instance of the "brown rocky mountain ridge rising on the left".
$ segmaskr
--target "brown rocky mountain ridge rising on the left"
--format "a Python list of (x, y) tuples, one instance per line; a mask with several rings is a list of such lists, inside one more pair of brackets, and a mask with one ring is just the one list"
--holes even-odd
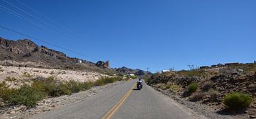
[[(80, 60), (78, 58), (68, 57), (63, 52), (51, 50), (45, 46), (38, 46), (36, 43), (28, 39), (6, 40), (4, 38), (0, 38), (0, 61), (6, 62), (6, 65), (14, 65), (19, 67), (76, 69), (100, 72), (102, 74), (145, 74), (144, 71), (139, 69), (133, 70), (124, 67), (112, 69), (105, 67), (105, 62), (102, 61), (95, 64), (93, 62)], [(80, 63), (81, 61), (82, 63)]]

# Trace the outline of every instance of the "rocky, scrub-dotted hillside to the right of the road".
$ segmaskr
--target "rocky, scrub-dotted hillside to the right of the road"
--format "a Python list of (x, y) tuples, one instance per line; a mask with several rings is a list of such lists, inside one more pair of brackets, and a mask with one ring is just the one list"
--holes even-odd
[[(147, 79), (147, 84), (188, 101), (210, 106), (216, 113), (225, 112), (223, 101), (228, 94), (248, 94), (252, 103), (245, 111), (242, 110), (242, 115), (256, 118), (256, 62), (156, 73)], [(196, 88), (193, 93), (188, 93), (192, 84)]]

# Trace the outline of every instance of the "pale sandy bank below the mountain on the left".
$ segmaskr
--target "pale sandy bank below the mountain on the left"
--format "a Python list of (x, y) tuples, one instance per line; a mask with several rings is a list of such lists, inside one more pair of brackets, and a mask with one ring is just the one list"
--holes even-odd
[(33, 67), (6, 67), (0, 65), (0, 81), (32, 79), (35, 77), (55, 77), (60, 81), (95, 81), (107, 75), (99, 74), (97, 72), (81, 72), (63, 69), (43, 69)]

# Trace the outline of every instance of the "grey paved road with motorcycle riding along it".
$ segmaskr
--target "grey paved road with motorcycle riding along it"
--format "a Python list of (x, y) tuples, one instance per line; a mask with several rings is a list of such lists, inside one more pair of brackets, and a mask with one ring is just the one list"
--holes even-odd
[(136, 80), (128, 81), (86, 98), (85, 101), (41, 113), (33, 118), (202, 118), (186, 108), (181, 108), (150, 86), (144, 85), (141, 91), (135, 90), (135, 83)]

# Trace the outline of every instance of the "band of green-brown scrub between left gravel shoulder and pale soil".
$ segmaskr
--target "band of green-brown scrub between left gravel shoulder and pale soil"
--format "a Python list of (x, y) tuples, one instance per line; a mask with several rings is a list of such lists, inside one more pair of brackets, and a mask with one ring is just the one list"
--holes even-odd
[(47, 96), (70, 95), (90, 89), (92, 86), (102, 86), (120, 80), (122, 77), (104, 77), (95, 82), (60, 82), (55, 80), (55, 77), (48, 77), (46, 79), (33, 79), (31, 85), (24, 84), (18, 89), (9, 89), (9, 86), (3, 81), (0, 83), (0, 98), (9, 104), (24, 105), (31, 108)]

